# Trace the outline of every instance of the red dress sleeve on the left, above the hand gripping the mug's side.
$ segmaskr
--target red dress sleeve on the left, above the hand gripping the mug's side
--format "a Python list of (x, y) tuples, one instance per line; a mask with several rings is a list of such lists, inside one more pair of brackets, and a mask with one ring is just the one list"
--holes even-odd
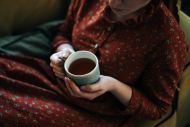
[(77, 11), (77, 4), (79, 0), (72, 0), (68, 9), (66, 19), (58, 28), (58, 33), (53, 39), (52, 46), (56, 49), (59, 45), (72, 42), (72, 31), (75, 23), (75, 14)]

